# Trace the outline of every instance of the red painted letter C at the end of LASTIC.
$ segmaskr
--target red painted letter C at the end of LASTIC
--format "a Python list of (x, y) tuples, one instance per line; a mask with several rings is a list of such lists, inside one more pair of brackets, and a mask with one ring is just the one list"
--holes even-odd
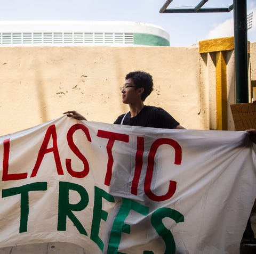
[(156, 151), (158, 147), (163, 144), (171, 145), (174, 148), (175, 150), (174, 164), (180, 165), (181, 163), (182, 150), (181, 150), (181, 146), (176, 141), (171, 140), (170, 138), (159, 138), (151, 145), (151, 148), (148, 154), (148, 167), (147, 167), (147, 173), (145, 177), (144, 191), (146, 195), (151, 200), (154, 200), (154, 201), (164, 201), (164, 200), (170, 199), (176, 191), (176, 182), (174, 181), (170, 181), (169, 190), (167, 191), (166, 194), (162, 196), (155, 195), (153, 192), (151, 192), (151, 189), (150, 189), (150, 185), (153, 177), (153, 170), (154, 170), (154, 163), (155, 163), (154, 159), (155, 159)]

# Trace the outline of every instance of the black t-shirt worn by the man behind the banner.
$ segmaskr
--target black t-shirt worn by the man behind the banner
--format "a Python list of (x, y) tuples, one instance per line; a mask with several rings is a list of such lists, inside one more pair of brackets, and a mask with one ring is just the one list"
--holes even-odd
[[(121, 114), (114, 124), (121, 124), (125, 114)], [(179, 122), (177, 122), (167, 111), (156, 106), (144, 106), (142, 110), (135, 117), (131, 117), (131, 113), (127, 113), (123, 125), (154, 127), (173, 129)]]

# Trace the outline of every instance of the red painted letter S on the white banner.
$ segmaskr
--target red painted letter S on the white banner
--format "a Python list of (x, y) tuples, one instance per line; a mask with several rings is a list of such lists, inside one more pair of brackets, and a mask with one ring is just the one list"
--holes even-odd
[(86, 160), (86, 158), (84, 157), (84, 155), (79, 151), (79, 149), (77, 148), (77, 146), (75, 145), (75, 143), (73, 141), (73, 134), (78, 129), (82, 129), (87, 137), (87, 140), (92, 142), (90, 134), (89, 134), (89, 129), (85, 125), (82, 125), (82, 124), (75, 124), (70, 127), (70, 129), (68, 130), (68, 133), (67, 133), (67, 141), (68, 141), (68, 145), (69, 145), (70, 149), (77, 155), (77, 157), (80, 160), (82, 160), (82, 162), (84, 164), (84, 169), (83, 169), (83, 171), (79, 171), (79, 172), (74, 171), (71, 168), (71, 159), (66, 159), (66, 167), (67, 167), (68, 173), (71, 176), (74, 176), (77, 178), (82, 178), (82, 177), (87, 176), (89, 173), (89, 163)]

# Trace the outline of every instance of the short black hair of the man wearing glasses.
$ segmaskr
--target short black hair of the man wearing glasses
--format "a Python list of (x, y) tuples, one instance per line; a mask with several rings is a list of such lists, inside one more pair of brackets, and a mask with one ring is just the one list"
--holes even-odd
[(152, 76), (144, 71), (132, 71), (128, 73), (125, 79), (131, 78), (135, 87), (143, 87), (144, 92), (141, 95), (141, 100), (145, 101), (148, 95), (153, 91), (153, 79)]

